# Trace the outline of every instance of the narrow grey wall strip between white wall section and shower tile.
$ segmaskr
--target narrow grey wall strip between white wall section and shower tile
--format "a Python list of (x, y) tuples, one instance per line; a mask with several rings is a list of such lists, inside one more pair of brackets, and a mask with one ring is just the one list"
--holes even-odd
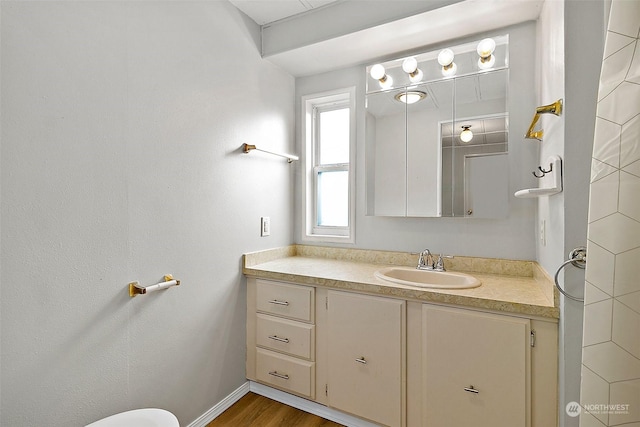
[[(563, 257), (556, 258), (551, 273), (567, 259), (569, 251), (587, 243), (591, 152), (606, 30), (603, 3), (601, 0), (565, 2), (564, 249)], [(584, 273), (573, 267), (565, 269), (565, 289), (574, 295), (582, 295)], [(566, 415), (564, 408), (566, 403), (578, 401), (580, 396), (583, 307), (564, 300), (560, 316), (563, 318), (561, 355), (564, 355), (560, 425), (569, 427), (578, 425), (575, 418)]]

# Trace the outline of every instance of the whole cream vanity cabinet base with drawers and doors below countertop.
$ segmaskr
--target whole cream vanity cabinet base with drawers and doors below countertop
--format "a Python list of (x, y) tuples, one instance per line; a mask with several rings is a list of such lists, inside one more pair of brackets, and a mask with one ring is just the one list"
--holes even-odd
[(247, 279), (247, 378), (393, 427), (554, 427), (558, 324)]

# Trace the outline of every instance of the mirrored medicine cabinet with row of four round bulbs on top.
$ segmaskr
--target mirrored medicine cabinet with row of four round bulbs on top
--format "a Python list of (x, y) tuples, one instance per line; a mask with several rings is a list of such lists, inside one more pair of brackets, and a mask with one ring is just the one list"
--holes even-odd
[(368, 215), (508, 215), (508, 42), (367, 67)]

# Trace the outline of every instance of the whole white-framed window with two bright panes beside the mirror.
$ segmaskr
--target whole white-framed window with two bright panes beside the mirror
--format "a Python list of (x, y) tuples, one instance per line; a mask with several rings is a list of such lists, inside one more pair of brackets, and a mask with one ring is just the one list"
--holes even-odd
[(354, 89), (303, 98), (303, 240), (353, 242)]

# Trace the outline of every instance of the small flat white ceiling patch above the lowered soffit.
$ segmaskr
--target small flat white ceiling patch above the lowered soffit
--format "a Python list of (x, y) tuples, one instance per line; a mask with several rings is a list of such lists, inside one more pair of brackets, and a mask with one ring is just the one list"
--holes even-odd
[(299, 15), (338, 0), (230, 0), (258, 25), (266, 25)]

